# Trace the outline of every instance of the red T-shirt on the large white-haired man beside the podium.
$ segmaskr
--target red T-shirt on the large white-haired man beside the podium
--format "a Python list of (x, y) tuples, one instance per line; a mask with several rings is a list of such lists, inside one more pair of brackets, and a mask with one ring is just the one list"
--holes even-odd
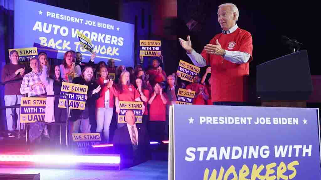
[(248, 31), (238, 28), (230, 34), (215, 35), (209, 44), (216, 45), (216, 39), (225, 50), (245, 52), (251, 56), (247, 63), (236, 64), (202, 51), (207, 65), (212, 67), (212, 101), (245, 102), (248, 98), (249, 62), (252, 61), (252, 36)]

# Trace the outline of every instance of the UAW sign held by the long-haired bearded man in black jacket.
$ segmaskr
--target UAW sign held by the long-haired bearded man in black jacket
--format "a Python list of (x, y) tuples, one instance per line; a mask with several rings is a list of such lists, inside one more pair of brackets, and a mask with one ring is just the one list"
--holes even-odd
[[(63, 82), (60, 94), (69, 98), (70, 109), (84, 110), (86, 105), (85, 95), (87, 95), (87, 91), (88, 86)], [(67, 108), (66, 97), (59, 98), (58, 107)]]

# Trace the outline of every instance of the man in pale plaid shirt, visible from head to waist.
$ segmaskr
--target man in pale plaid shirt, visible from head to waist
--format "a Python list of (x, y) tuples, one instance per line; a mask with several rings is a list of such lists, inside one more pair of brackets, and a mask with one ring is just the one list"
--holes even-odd
[(32, 71), (24, 75), (20, 86), (20, 93), (28, 94), (28, 97), (46, 94), (45, 85), (40, 80), (41, 72), (36, 58), (31, 58), (30, 67)]

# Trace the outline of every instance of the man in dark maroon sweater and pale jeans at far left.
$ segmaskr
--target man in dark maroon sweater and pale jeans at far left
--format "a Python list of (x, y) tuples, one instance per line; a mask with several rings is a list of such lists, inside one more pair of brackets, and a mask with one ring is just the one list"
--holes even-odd
[[(22, 64), (19, 64), (19, 54), (16, 50), (10, 51), (9, 59), (11, 62), (4, 65), (1, 76), (2, 82), (5, 83), (4, 101), (6, 106), (20, 104), (22, 95), (19, 89), (25, 73), (25, 67)], [(14, 123), (13, 115), (15, 111), (18, 115), (18, 119), (20, 119), (20, 108), (5, 109), (8, 131), (14, 131), (14, 129), (19, 130), (19, 127), (21, 127), (20, 129), (23, 129), (23, 124), (20, 126), (19, 123)], [(17, 125), (17, 127), (15, 127), (15, 125)]]

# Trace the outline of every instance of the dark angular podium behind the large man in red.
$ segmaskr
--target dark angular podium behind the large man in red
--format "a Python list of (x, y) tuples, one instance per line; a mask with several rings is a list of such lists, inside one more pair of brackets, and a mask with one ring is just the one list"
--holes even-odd
[(312, 91), (307, 50), (256, 66), (256, 95), (262, 106), (306, 107)]

